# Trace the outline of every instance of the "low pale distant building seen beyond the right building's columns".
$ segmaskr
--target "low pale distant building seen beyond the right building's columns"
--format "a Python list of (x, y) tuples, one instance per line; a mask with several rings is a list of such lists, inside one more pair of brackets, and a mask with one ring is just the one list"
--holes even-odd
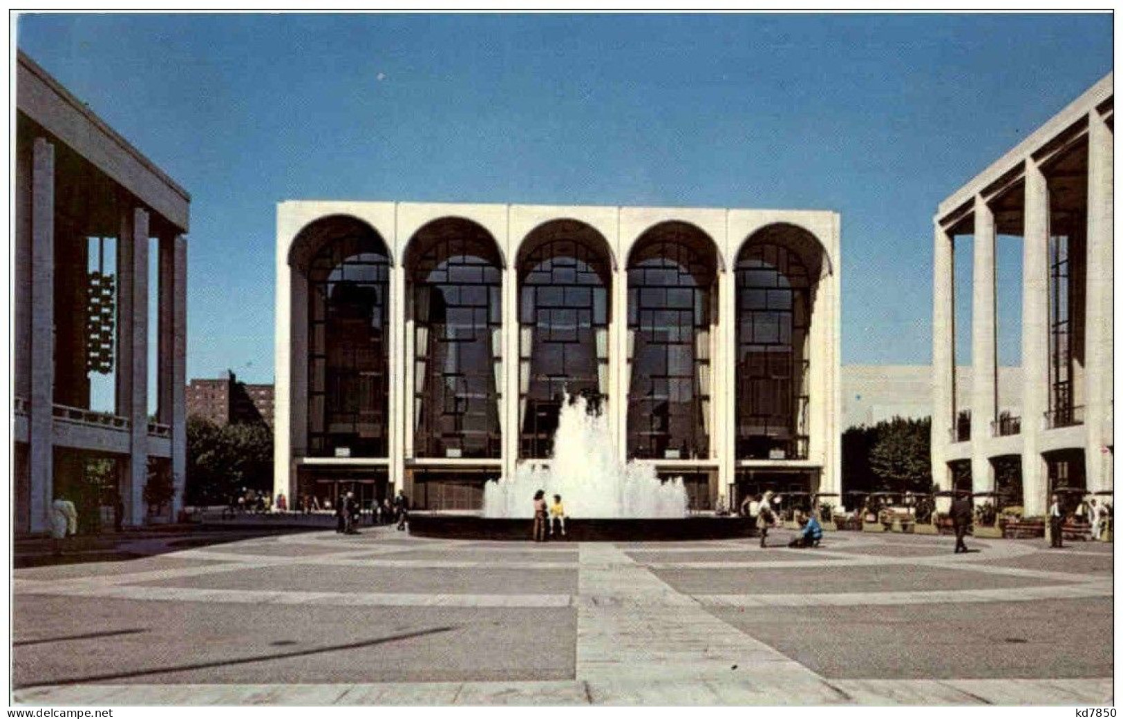
[[(971, 368), (957, 370), (959, 406), (969, 404)], [(998, 414), (1020, 416), (1022, 369), (998, 368)], [(842, 421), (846, 431), (874, 426), (893, 417), (920, 420), (932, 415), (932, 368), (929, 365), (844, 365), (842, 367)]]

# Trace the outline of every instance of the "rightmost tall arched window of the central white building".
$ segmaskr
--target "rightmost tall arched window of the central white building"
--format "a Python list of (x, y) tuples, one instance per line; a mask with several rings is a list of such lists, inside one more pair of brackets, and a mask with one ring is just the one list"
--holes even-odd
[(736, 277), (737, 459), (805, 459), (812, 274), (791, 247), (750, 240)]

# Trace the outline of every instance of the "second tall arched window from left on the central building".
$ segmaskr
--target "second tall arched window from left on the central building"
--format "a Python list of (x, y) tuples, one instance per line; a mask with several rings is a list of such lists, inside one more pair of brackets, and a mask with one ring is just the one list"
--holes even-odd
[(501, 451), (502, 261), (467, 220), (438, 220), (408, 260), (417, 457), (497, 458)]

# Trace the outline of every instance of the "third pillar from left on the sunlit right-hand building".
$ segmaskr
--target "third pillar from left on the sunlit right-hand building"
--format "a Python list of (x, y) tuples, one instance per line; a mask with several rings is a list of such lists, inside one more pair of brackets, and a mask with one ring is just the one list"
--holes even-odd
[(1040, 433), (1049, 408), (1049, 185), (1025, 160), (1022, 255), (1022, 492), (1026, 515), (1047, 507)]

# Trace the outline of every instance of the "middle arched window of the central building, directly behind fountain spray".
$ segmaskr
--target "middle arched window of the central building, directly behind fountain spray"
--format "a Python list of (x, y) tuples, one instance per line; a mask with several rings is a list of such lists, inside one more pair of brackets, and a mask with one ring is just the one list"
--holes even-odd
[(545, 459), (565, 393), (600, 405), (609, 394), (608, 246), (581, 222), (527, 238), (519, 260), (519, 457)]

